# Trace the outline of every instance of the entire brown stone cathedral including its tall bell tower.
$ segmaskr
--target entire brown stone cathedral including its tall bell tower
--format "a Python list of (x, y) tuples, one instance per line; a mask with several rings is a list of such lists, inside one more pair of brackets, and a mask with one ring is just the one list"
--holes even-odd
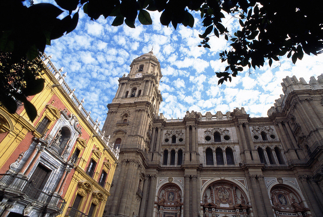
[(159, 114), (151, 52), (134, 59), (102, 131), (120, 148), (105, 216), (323, 216), (323, 74), (283, 79), (268, 117)]

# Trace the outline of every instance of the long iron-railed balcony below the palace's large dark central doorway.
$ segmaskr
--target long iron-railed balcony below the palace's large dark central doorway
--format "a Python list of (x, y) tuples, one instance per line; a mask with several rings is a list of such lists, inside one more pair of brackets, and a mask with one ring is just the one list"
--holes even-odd
[(26, 195), (30, 200), (52, 207), (57, 212), (62, 212), (66, 204), (63, 198), (43, 192), (35, 188), (31, 181), (12, 174), (0, 174), (0, 192), (19, 198)]

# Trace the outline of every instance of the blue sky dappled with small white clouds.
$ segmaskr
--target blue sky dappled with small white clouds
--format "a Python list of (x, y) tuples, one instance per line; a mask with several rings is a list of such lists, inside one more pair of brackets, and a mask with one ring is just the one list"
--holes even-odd
[[(101, 121), (100, 128), (108, 112), (107, 104), (117, 92), (119, 77), (129, 73), (133, 59), (148, 53), (152, 47), (163, 75), (159, 112), (167, 119), (183, 118), (186, 111), (204, 115), (208, 111), (233, 112), (236, 107), (244, 107), (250, 117), (267, 117), (268, 109), (283, 94), (280, 84), (283, 78), (295, 75), (308, 82), (311, 76), (317, 78), (322, 73), (323, 54), (304, 54), (295, 65), (285, 56), (271, 67), (266, 63), (264, 67), (251, 69), (251, 74), (246, 68), (231, 83), (217, 85), (215, 72), (224, 71), (227, 65), (219, 60), (219, 53), (229, 50), (230, 43), (224, 36), (211, 37), (211, 49), (200, 48), (198, 34), (205, 28), (198, 12), (193, 13), (193, 28), (178, 25), (176, 30), (172, 25), (161, 25), (158, 12), (149, 13), (152, 25), (141, 25), (137, 19), (136, 28), (131, 29), (125, 24), (111, 26), (114, 17), (101, 16), (91, 21), (81, 9), (76, 29), (46, 46), (45, 53), (53, 55), (51, 61), (55, 67), (63, 66), (63, 73), (67, 72), (65, 81), (71, 89), (76, 88), (75, 95), (79, 100), (85, 98), (83, 106), (91, 111), (92, 119)], [(230, 32), (237, 30), (238, 19), (225, 15), (224, 26)]]

